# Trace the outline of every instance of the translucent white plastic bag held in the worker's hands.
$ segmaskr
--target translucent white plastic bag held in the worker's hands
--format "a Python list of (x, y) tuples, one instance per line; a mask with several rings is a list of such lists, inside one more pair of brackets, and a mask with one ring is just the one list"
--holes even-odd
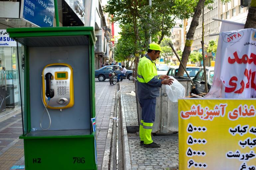
[(174, 79), (173, 84), (171, 86), (165, 85), (166, 93), (170, 101), (178, 102), (178, 98), (185, 97), (185, 87), (176, 80), (174, 77), (169, 76), (170, 78)]

